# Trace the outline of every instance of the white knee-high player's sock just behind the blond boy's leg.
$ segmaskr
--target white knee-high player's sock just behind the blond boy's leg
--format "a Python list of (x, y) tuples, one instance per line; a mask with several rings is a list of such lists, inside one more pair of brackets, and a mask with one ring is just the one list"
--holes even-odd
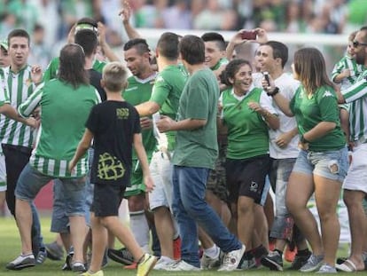
[(130, 229), (134, 234), (137, 244), (144, 252), (149, 251), (149, 226), (145, 218), (144, 210), (130, 212)]

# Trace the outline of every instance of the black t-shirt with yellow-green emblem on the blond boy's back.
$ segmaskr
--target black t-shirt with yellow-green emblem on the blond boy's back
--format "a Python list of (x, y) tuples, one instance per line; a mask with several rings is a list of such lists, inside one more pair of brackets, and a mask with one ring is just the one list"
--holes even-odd
[(141, 132), (137, 109), (126, 101), (107, 100), (92, 108), (86, 127), (94, 135), (91, 183), (128, 186), (133, 138)]

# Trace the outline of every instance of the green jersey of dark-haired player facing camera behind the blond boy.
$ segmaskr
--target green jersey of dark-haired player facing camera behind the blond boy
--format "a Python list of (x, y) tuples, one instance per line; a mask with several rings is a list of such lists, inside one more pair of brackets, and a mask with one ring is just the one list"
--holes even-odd
[[(128, 78), (128, 88), (122, 91), (122, 97), (130, 105), (137, 106), (151, 99), (152, 86), (156, 75), (152, 75), (144, 80), (138, 79), (132, 75)], [(142, 130), (143, 145), (145, 152), (148, 155), (148, 159), (151, 160), (152, 153), (156, 147), (156, 140), (154, 138), (152, 129)], [(137, 153), (133, 151), (133, 160), (137, 160)]]

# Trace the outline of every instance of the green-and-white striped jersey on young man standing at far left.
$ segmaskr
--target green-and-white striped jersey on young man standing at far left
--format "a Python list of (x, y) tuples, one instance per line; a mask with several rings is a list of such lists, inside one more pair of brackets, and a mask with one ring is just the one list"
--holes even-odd
[[(8, 92), (9, 102), (18, 108), (35, 90), (31, 80), (31, 67), (26, 66), (17, 74), (10, 67), (3, 68), (4, 89)], [(0, 141), (14, 146), (32, 147), (33, 130), (27, 125), (0, 115)]]

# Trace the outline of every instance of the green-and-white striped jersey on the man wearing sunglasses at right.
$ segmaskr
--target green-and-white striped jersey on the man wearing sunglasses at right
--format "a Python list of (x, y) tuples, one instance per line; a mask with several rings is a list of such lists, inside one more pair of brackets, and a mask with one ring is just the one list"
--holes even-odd
[(367, 139), (367, 70), (347, 90), (342, 90), (349, 108), (349, 130), (352, 141)]

